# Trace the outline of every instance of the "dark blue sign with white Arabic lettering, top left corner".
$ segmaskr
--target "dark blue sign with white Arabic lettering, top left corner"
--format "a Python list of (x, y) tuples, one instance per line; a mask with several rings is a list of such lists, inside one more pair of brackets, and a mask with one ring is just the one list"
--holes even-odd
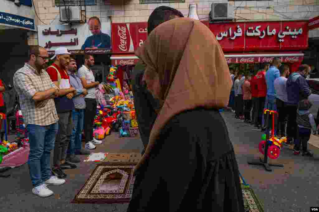
[(34, 20), (5, 12), (0, 12), (0, 24), (20, 26), (34, 30)]

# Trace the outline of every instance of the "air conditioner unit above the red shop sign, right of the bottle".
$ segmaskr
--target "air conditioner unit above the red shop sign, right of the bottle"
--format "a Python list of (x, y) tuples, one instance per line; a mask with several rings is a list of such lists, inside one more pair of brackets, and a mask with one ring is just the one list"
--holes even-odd
[(234, 19), (234, 6), (229, 2), (211, 3), (210, 16), (212, 20)]

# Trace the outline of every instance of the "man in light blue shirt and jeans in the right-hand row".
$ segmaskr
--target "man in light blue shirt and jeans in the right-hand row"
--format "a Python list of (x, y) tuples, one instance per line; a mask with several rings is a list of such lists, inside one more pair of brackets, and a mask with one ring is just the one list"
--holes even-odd
[[(272, 65), (269, 67), (269, 69), (266, 72), (266, 84), (267, 84), (267, 95), (266, 95), (266, 101), (265, 101), (265, 109), (268, 110), (277, 110), (276, 108), (276, 90), (274, 87), (274, 81), (278, 77), (280, 77), (279, 67), (281, 66), (281, 59), (278, 57), (275, 57), (272, 60)], [(262, 125), (264, 126), (264, 116), (262, 120)], [(264, 126), (266, 127), (266, 126)], [(265, 128), (262, 129), (262, 131)]]

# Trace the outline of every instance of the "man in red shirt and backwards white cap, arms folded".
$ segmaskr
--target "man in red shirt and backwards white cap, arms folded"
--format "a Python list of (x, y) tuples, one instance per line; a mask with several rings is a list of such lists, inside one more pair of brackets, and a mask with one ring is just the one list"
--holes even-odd
[(54, 146), (54, 167), (52, 172), (58, 178), (65, 178), (66, 174), (63, 173), (62, 169), (76, 168), (76, 165), (68, 162), (69, 160), (66, 158), (73, 129), (72, 110), (74, 110), (74, 103), (72, 97), (76, 94), (76, 90), (70, 86), (70, 77), (65, 71), (70, 60), (70, 53), (67, 48), (57, 48), (55, 55), (51, 60), (54, 58), (54, 63), (47, 68), (51, 80), (58, 88), (60, 88), (59, 97), (54, 99), (59, 117), (59, 130), (56, 135)]

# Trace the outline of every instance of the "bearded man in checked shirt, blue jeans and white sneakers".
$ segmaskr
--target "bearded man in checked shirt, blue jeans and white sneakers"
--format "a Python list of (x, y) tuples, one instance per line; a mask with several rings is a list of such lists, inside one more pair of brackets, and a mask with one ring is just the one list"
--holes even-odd
[(29, 135), (28, 165), (32, 192), (47, 197), (53, 194), (47, 188), (48, 184), (65, 183), (65, 180), (52, 176), (50, 168), (50, 153), (58, 131), (53, 98), (59, 95), (59, 89), (43, 69), (48, 62), (48, 52), (41, 46), (30, 46), (28, 56), (29, 61), (14, 74), (13, 83)]

